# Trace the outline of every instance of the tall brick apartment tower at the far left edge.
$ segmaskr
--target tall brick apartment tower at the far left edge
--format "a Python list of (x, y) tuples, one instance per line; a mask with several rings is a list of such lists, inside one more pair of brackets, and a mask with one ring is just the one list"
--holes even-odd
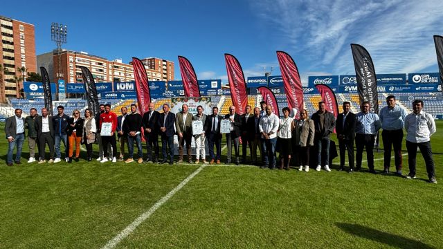
[(28, 72), (37, 72), (35, 56), (35, 28), (33, 24), (26, 24), (8, 17), (0, 16), (1, 41), (0, 64), (3, 76), (0, 80), (0, 102), (6, 98), (19, 98), (23, 89), (20, 73), (17, 68), (26, 68)]

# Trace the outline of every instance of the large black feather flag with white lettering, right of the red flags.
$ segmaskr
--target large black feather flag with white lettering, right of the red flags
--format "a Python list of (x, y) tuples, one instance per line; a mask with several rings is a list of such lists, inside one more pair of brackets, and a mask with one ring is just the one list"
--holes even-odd
[(377, 91), (377, 77), (375, 75), (374, 63), (365, 48), (359, 44), (351, 44), (352, 57), (359, 91), (360, 103), (368, 101), (370, 111), (379, 113), (379, 93)]

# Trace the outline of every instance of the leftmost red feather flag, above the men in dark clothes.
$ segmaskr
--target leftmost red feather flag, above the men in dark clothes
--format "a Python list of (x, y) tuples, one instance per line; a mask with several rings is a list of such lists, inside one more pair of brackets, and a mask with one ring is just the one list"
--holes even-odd
[[(143, 115), (143, 113), (149, 110), (151, 102), (149, 82), (147, 80), (145, 65), (143, 65), (140, 59), (132, 57), (132, 66), (134, 67), (134, 78), (136, 80), (138, 113)], [(143, 137), (144, 136), (142, 136), (142, 138)]]

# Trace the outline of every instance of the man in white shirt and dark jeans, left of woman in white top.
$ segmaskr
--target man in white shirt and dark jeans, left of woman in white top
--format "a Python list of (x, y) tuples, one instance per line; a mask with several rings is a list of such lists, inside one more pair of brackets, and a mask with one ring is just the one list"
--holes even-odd
[[(272, 111), (271, 105), (266, 105), (266, 115), (262, 116), (260, 124), (258, 125), (260, 133), (262, 133), (262, 169), (266, 167), (275, 169), (277, 163), (275, 158), (275, 145), (277, 144), (277, 131), (280, 120)], [(271, 162), (269, 162), (269, 158), (271, 158)], [(271, 163), (271, 166), (269, 166), (269, 163)]]

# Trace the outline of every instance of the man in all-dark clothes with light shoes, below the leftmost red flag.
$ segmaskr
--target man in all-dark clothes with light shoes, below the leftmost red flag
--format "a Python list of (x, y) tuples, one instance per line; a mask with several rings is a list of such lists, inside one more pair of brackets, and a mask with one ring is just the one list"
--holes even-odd
[(143, 163), (143, 149), (141, 147), (141, 127), (142, 118), (137, 113), (136, 104), (131, 104), (131, 114), (127, 115), (125, 122), (123, 122), (123, 133), (127, 135), (127, 147), (129, 157), (125, 163), (134, 162), (134, 140), (137, 144), (138, 160), (137, 163)]

